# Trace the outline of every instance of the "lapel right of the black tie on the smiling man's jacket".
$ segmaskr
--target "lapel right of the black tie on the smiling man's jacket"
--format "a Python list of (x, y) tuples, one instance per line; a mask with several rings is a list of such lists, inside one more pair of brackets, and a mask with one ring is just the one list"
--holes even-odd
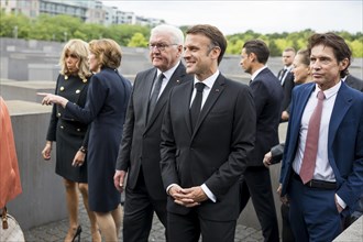
[[(213, 107), (213, 105), (216, 103), (216, 101), (218, 100), (220, 95), (223, 92), (224, 84), (226, 84), (226, 78), (220, 74), (218, 76), (218, 78), (216, 79), (216, 81), (209, 92), (209, 96), (206, 100), (206, 103), (204, 105), (204, 107), (200, 111), (200, 116), (199, 116), (199, 119), (197, 120), (193, 135), (196, 134), (196, 132), (199, 129), (199, 127), (201, 125), (202, 121), (206, 119), (207, 114), (210, 112), (210, 109)], [(190, 114), (189, 114), (189, 120), (190, 120)], [(189, 121), (189, 123), (190, 123), (190, 121)]]

